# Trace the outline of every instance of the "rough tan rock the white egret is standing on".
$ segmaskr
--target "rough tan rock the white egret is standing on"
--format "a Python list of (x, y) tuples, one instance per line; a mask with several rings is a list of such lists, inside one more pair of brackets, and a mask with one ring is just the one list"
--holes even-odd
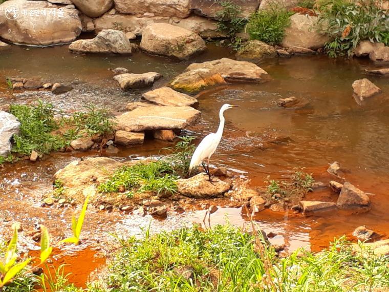
[(177, 180), (178, 193), (191, 198), (215, 198), (223, 196), (231, 185), (219, 178), (212, 177), (212, 183), (208, 179), (208, 175), (200, 173), (188, 179)]

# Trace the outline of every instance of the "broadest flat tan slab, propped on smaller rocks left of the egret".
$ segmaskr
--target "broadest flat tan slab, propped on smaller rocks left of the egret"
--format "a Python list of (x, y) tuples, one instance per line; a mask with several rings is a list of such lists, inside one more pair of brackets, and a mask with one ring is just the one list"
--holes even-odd
[(201, 113), (191, 107), (138, 107), (116, 116), (117, 130), (142, 132), (145, 130), (184, 129), (200, 119)]

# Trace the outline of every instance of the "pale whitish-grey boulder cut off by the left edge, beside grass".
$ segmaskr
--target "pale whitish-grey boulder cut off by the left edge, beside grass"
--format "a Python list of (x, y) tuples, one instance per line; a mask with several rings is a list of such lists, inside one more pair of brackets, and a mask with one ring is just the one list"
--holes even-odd
[(14, 115), (0, 111), (0, 156), (6, 157), (11, 152), (11, 138), (19, 131), (20, 122)]

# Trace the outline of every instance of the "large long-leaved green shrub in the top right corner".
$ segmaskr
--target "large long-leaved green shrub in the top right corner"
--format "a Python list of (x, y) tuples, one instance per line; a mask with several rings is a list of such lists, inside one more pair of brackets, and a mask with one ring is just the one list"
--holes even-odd
[(320, 3), (320, 20), (332, 38), (325, 49), (330, 57), (352, 56), (360, 40), (389, 44), (389, 15), (374, 0), (328, 0)]

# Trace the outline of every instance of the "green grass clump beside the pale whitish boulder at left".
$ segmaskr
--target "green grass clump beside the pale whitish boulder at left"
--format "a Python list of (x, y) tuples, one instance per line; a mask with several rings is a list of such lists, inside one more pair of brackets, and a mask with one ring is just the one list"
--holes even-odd
[[(20, 131), (13, 136), (12, 152), (30, 155), (32, 151), (47, 154), (66, 147), (76, 138), (112, 132), (113, 123), (104, 110), (86, 107), (86, 112), (55, 118), (58, 111), (50, 103), (11, 105), (10, 113), (20, 121)], [(66, 131), (58, 131), (66, 127)], [(0, 161), (1, 162), (1, 161)]]

